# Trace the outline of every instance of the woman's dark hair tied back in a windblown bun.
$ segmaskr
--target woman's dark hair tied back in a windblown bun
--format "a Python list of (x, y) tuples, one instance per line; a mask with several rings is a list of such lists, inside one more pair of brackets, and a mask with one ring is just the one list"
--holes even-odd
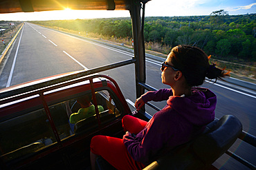
[(202, 85), (205, 77), (214, 79), (229, 76), (229, 72), (210, 65), (210, 56), (205, 54), (199, 47), (179, 45), (172, 48), (170, 53), (171, 62), (181, 70), (190, 86)]

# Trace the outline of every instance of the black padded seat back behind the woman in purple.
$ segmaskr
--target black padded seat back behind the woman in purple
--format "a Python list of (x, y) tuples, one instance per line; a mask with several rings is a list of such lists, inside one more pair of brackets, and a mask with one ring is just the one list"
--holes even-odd
[[(150, 169), (205, 169), (225, 153), (241, 134), (242, 125), (232, 115), (214, 120), (198, 138), (158, 158)], [(152, 166), (152, 167), (150, 167)]]

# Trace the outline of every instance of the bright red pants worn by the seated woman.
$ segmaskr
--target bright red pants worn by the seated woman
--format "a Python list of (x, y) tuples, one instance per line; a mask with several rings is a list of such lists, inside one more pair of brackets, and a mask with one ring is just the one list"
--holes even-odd
[[(138, 134), (144, 129), (147, 122), (134, 118), (133, 116), (124, 116), (122, 118), (122, 127), (125, 131), (132, 134)], [(102, 156), (116, 169), (143, 169), (145, 167), (141, 162), (135, 161), (127, 151), (122, 139), (109, 136), (94, 136), (91, 139), (91, 152)]]

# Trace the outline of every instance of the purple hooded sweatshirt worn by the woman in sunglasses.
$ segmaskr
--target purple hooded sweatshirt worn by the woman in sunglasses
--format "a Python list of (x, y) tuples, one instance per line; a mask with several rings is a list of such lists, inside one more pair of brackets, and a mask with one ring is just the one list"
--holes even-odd
[(131, 134), (122, 138), (131, 157), (145, 165), (192, 140), (214, 120), (217, 97), (209, 89), (192, 88), (188, 97), (172, 96), (172, 89), (159, 89), (143, 94), (142, 98), (145, 103), (167, 100), (167, 105), (154, 114), (135, 138)]

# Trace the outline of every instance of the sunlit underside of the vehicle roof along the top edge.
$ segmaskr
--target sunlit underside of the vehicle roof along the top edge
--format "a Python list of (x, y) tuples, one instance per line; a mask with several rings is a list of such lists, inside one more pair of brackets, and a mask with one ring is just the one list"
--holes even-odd
[[(150, 0), (135, 0), (147, 3)], [(49, 10), (129, 10), (131, 0), (1, 0), (0, 13)]]

